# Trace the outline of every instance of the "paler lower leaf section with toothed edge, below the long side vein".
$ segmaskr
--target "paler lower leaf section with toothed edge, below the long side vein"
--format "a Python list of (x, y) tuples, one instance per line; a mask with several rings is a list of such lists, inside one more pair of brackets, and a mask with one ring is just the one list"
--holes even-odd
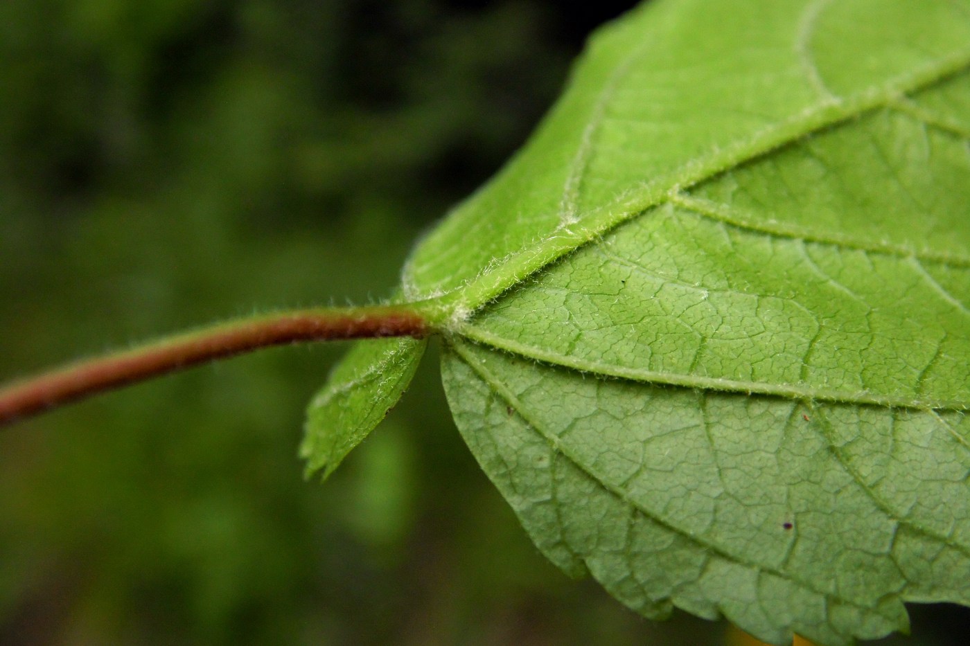
[(443, 370), (536, 545), (649, 617), (672, 602), (844, 644), (905, 629), (903, 598), (970, 603), (960, 413), (645, 385), (461, 341)]

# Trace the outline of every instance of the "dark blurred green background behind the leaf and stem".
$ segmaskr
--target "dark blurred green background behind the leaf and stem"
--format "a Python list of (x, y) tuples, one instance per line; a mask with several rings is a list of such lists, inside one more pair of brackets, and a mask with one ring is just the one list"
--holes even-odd
[[(389, 295), (633, 3), (576, 4), (3, 0), (0, 378)], [(434, 356), (305, 482), (303, 409), (343, 349), (0, 434), (0, 643), (722, 643), (722, 624), (641, 620), (547, 564), (455, 432)], [(957, 643), (960, 617), (920, 611), (908, 643)]]

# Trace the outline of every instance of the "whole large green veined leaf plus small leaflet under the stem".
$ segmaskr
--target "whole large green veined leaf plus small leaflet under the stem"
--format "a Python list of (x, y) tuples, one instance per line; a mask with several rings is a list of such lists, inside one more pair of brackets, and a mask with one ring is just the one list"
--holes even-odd
[(970, 604), (970, 0), (643, 5), (404, 294), (535, 544), (634, 610), (835, 646)]

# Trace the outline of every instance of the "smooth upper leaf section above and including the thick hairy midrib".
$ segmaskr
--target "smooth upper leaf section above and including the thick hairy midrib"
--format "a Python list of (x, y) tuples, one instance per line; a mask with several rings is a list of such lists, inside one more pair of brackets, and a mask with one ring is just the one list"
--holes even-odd
[[(886, 105), (970, 64), (970, 20), (965, 15), (965, 3), (934, 0), (929, 4), (937, 13), (950, 12), (945, 20), (947, 33), (930, 39), (931, 46), (902, 56), (910, 60), (912, 69), (900, 71), (900, 55), (893, 53), (905, 41), (886, 42), (876, 29), (875, 45), (883, 49), (865, 52), (864, 59), (885, 58), (892, 64), (876, 65), (874, 70), (866, 69), (871, 64), (863, 64), (862, 72), (875, 80), (866, 79), (869, 84), (835, 99), (820, 95), (805, 74), (794, 42), (803, 38), (801, 22), (817, 4), (759, 1), (739, 7), (727, 2), (653, 2), (598, 32), (566, 94), (530, 143), (419, 244), (405, 268), (408, 298), (454, 293), (455, 307), (463, 312), (473, 310), (527, 275), (663, 201), (671, 188), (711, 178), (830, 124)], [(857, 0), (849, 4), (866, 3)], [(905, 11), (899, 10), (900, 6), (909, 6), (911, 16), (901, 21), (900, 28), (913, 30), (911, 35), (921, 36), (926, 29), (938, 32), (933, 29), (935, 21), (927, 26), (921, 8), (905, 2), (891, 4), (897, 11)], [(781, 21), (784, 18), (787, 22)], [(710, 38), (698, 38), (697, 24), (705, 25), (703, 35)], [(759, 71), (756, 65), (753, 74), (749, 67), (761, 57), (753, 60), (739, 56), (736, 45), (759, 39), (774, 43), (771, 51), (778, 54), (763, 58), (780, 62), (767, 71)], [(698, 41), (705, 47), (698, 48)], [(651, 59), (650, 54), (661, 56), (660, 61)], [(853, 61), (850, 58), (845, 62)], [(727, 71), (722, 69), (725, 65), (729, 66)], [(683, 67), (714, 83), (701, 101), (691, 99), (695, 78), (676, 74)], [(654, 68), (661, 72), (651, 76)], [(581, 173), (590, 175), (585, 168), (590, 160), (584, 143), (592, 135), (583, 117), (598, 124), (604, 112), (601, 104), (622, 89), (620, 81), (634, 89), (647, 88), (657, 96), (635, 96), (625, 102), (630, 114), (616, 114), (613, 120), (659, 126), (636, 134), (614, 128), (612, 139), (629, 142), (629, 156), (618, 157), (619, 146), (610, 146), (611, 160), (604, 162), (602, 173), (594, 173), (596, 190), (584, 191), (589, 194), (584, 199), (593, 206), (567, 212), (564, 205), (568, 205), (568, 194), (578, 181), (572, 177), (575, 167), (581, 166)], [(735, 91), (737, 87), (760, 88), (760, 93)], [(776, 100), (768, 110), (762, 101), (765, 96), (790, 100)], [(690, 110), (685, 112), (685, 107)], [(616, 108), (611, 106), (611, 110)], [(747, 116), (732, 122), (731, 117), (737, 114)], [(671, 123), (678, 127), (671, 128)], [(694, 139), (685, 143), (686, 136)], [(636, 147), (636, 142), (644, 141), (649, 142), (648, 148)], [(644, 151), (649, 157), (643, 158)], [(589, 178), (584, 181), (590, 182)], [(465, 248), (462, 241), (469, 239), (479, 243)]]

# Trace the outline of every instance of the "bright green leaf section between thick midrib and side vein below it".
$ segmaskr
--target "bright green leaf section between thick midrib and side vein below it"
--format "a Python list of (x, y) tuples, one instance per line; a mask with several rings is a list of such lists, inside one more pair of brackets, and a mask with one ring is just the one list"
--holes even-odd
[(460, 330), (601, 374), (962, 407), (968, 181), (965, 141), (868, 113), (671, 196)]

